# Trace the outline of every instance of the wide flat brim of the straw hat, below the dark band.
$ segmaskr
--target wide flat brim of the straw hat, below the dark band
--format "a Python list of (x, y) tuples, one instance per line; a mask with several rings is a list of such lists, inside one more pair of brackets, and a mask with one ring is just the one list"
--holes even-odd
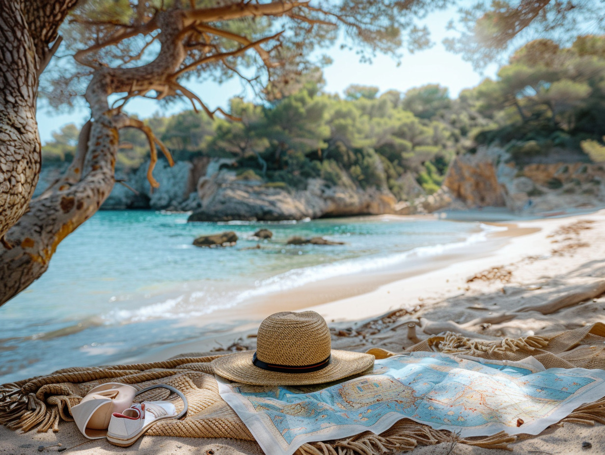
[(263, 370), (252, 363), (255, 351), (236, 352), (215, 358), (212, 370), (222, 378), (251, 386), (308, 386), (353, 376), (374, 365), (374, 356), (362, 352), (332, 349), (327, 367), (310, 373), (280, 373)]

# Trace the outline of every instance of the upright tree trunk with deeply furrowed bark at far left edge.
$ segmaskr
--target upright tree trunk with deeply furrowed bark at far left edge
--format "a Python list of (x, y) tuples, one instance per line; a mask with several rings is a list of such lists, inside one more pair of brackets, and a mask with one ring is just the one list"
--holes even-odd
[(38, 183), (38, 76), (76, 0), (0, 0), (0, 239), (27, 210)]

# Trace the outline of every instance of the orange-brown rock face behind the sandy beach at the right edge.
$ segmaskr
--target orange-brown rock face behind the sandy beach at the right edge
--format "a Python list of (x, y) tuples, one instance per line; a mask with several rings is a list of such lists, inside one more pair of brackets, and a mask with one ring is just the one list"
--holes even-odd
[(444, 185), (466, 207), (505, 205), (515, 213), (534, 214), (605, 205), (603, 164), (518, 166), (499, 147), (456, 157)]

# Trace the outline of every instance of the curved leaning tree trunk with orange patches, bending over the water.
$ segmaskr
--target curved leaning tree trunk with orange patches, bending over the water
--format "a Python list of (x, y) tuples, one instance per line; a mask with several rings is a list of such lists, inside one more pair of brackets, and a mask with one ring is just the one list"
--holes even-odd
[[(94, 215), (114, 186), (114, 165), (119, 129), (132, 120), (108, 105), (108, 95), (124, 92), (133, 85), (145, 88), (165, 82), (185, 59), (179, 39), (182, 16), (159, 16), (158, 57), (138, 68), (98, 69), (88, 85), (86, 98), (92, 119), (80, 134), (78, 152), (64, 176), (41, 196), (31, 201), (0, 245), (0, 305), (7, 302), (48, 268), (57, 245), (79, 225)], [(82, 166), (83, 164), (83, 166)]]

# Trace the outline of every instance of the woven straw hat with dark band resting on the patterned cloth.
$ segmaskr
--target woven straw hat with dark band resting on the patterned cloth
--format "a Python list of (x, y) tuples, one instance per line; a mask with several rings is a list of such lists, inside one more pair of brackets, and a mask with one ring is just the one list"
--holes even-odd
[(331, 349), (330, 330), (315, 311), (281, 312), (258, 328), (257, 350), (218, 357), (214, 373), (255, 386), (303, 386), (362, 373), (374, 356)]

